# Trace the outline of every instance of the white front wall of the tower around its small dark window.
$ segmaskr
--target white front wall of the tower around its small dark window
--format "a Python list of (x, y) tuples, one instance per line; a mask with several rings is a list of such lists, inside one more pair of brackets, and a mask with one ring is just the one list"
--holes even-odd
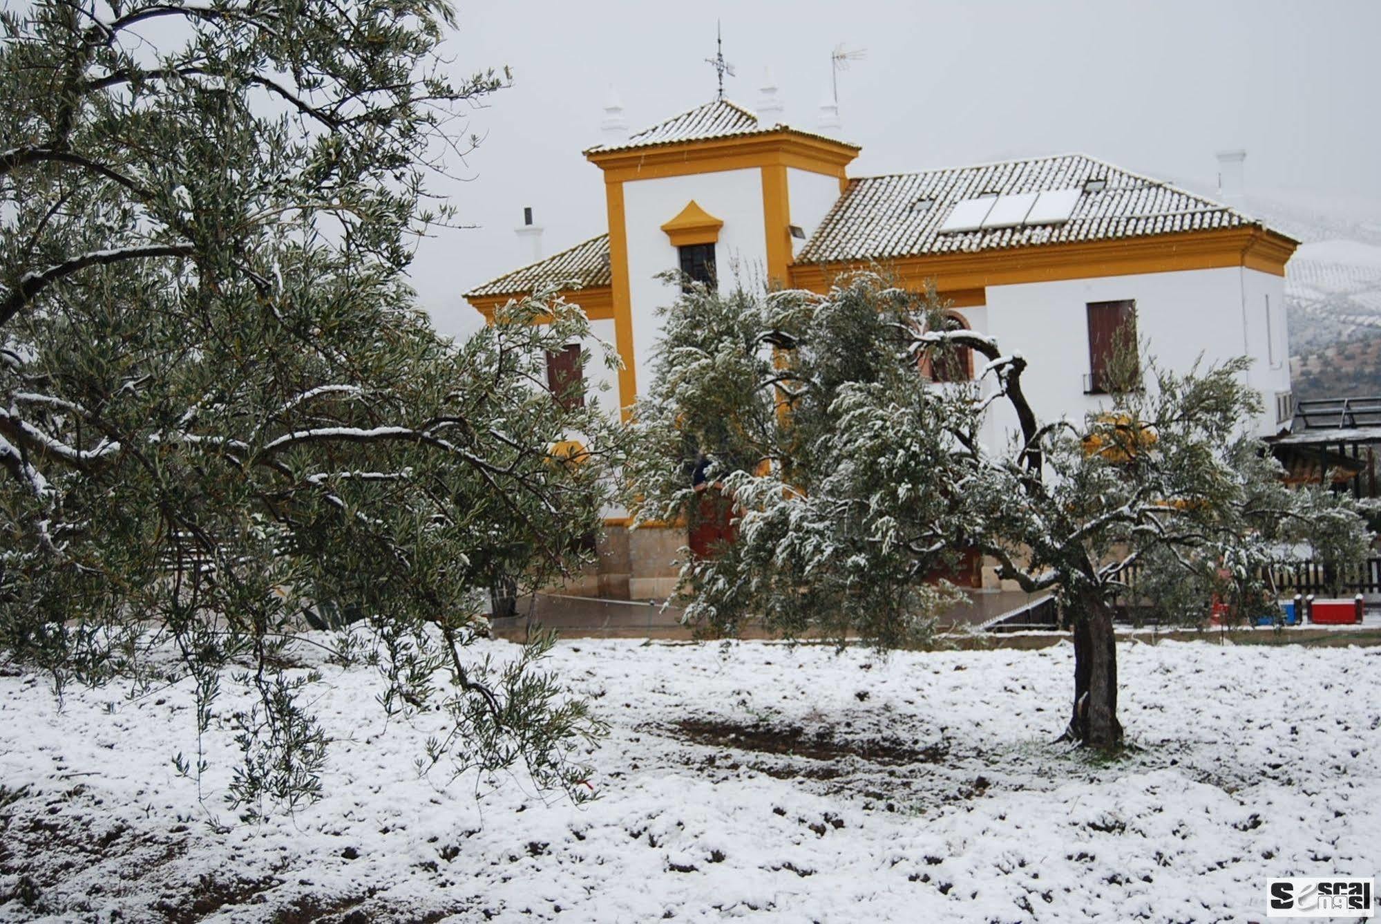
[(632, 352), (639, 394), (646, 394), (652, 383), (652, 345), (661, 325), (657, 308), (670, 304), (677, 294), (664, 282), (655, 279), (657, 273), (679, 267), (677, 249), (671, 246), (661, 225), (675, 218), (692, 199), (724, 221), (714, 249), (721, 290), (732, 289), (736, 276), (744, 286), (761, 286), (766, 278), (761, 170), (722, 170), (624, 182)]

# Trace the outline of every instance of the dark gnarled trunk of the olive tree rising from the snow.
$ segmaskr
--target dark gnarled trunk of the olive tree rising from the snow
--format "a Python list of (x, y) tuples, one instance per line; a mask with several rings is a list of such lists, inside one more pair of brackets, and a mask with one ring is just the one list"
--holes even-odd
[(1065, 738), (1113, 750), (1121, 744), (1117, 721), (1117, 645), (1113, 610), (1097, 591), (1084, 591), (1074, 613), (1074, 706)]

